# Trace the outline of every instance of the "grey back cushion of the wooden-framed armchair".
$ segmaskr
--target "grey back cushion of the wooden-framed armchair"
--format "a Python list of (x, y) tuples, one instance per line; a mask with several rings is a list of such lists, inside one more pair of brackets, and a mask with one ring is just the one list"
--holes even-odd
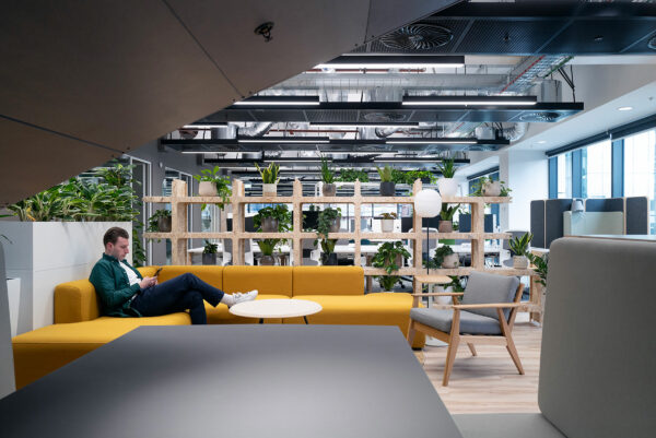
[[(465, 287), (462, 304), (513, 303), (517, 286), (519, 286), (519, 279), (516, 276), (472, 272), (469, 274), (467, 287)], [(499, 320), (496, 309), (472, 309), (468, 311)], [(506, 320), (509, 311), (509, 309), (503, 310)]]

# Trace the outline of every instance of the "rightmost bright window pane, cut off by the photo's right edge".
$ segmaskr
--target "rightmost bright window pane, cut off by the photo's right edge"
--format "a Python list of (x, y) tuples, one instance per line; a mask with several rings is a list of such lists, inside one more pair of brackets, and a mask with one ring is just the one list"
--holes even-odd
[(624, 139), (624, 196), (647, 197), (649, 233), (656, 234), (656, 130)]

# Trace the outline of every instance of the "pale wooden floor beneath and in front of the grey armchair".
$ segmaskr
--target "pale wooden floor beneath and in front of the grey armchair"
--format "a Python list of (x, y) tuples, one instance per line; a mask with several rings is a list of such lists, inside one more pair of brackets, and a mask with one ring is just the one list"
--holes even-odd
[[(473, 357), (467, 345), (461, 344), (448, 387), (442, 386), (447, 347), (424, 347), (424, 370), (452, 414), (539, 412), (542, 329), (528, 322), (528, 313), (518, 313), (513, 339), (524, 365), (524, 376), (517, 372), (504, 346), (477, 345), (478, 356)], [(422, 354), (417, 356), (421, 362)]]

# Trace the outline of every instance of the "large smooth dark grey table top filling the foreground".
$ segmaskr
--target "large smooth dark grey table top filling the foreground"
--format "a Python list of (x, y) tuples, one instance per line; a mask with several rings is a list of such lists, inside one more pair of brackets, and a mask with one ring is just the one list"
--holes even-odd
[(396, 327), (143, 327), (0, 400), (7, 437), (461, 437)]

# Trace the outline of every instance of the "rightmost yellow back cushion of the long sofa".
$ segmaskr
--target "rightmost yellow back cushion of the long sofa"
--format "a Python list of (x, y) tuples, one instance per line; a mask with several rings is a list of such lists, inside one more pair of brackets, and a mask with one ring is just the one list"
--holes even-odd
[(294, 293), (301, 295), (364, 295), (361, 267), (294, 267)]

